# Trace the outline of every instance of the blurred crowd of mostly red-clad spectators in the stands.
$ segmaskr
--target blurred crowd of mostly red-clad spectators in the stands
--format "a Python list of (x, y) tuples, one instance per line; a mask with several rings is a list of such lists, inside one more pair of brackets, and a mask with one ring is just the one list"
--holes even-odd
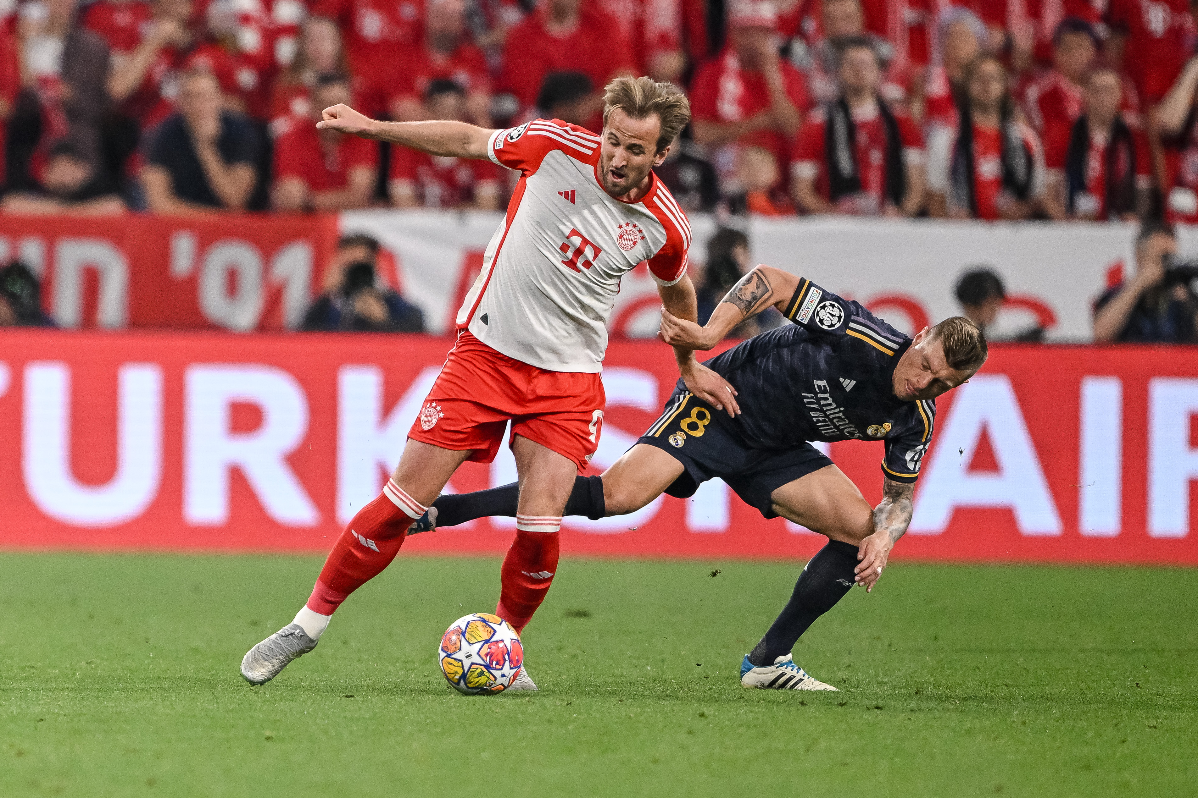
[(0, 0), (13, 213), (496, 208), (492, 164), (317, 132), (598, 129), (688, 91), (690, 211), (1198, 220), (1191, 0)]

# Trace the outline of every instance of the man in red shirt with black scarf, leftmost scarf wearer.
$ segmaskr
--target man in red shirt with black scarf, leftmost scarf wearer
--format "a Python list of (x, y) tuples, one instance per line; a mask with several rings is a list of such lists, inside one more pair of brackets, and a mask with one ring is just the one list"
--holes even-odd
[(881, 63), (867, 38), (841, 45), (841, 96), (803, 127), (792, 166), (807, 213), (913, 217), (924, 207), (924, 139), (878, 95)]

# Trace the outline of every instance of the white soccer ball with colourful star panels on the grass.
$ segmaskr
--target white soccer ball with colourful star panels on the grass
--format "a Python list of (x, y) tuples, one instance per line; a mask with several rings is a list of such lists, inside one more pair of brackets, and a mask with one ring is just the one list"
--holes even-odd
[(524, 665), (520, 635), (498, 615), (466, 615), (446, 629), (437, 650), (441, 672), (464, 695), (502, 693)]

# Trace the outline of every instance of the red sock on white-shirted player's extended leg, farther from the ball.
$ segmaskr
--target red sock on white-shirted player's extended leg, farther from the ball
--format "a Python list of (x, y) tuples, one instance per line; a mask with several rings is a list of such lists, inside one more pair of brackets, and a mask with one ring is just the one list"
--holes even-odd
[(308, 609), (332, 615), (355, 590), (367, 584), (399, 554), (407, 528), (426, 507), (388, 481), (374, 501), (358, 511), (333, 544)]

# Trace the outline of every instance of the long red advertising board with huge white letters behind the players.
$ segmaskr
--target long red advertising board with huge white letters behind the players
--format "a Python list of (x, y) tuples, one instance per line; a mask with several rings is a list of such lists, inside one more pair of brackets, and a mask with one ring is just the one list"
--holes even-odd
[[(376, 495), (449, 342), (423, 336), (0, 331), (0, 546), (326, 550)], [(615, 342), (595, 465), (658, 415), (670, 351)], [(938, 402), (897, 558), (1198, 565), (1198, 352), (996, 346)], [(879, 443), (830, 446), (872, 502)], [(510, 456), (452, 489), (514, 479)], [(498, 553), (510, 519), (405, 550)], [(722, 485), (568, 519), (574, 555), (805, 558), (822, 537)]]

